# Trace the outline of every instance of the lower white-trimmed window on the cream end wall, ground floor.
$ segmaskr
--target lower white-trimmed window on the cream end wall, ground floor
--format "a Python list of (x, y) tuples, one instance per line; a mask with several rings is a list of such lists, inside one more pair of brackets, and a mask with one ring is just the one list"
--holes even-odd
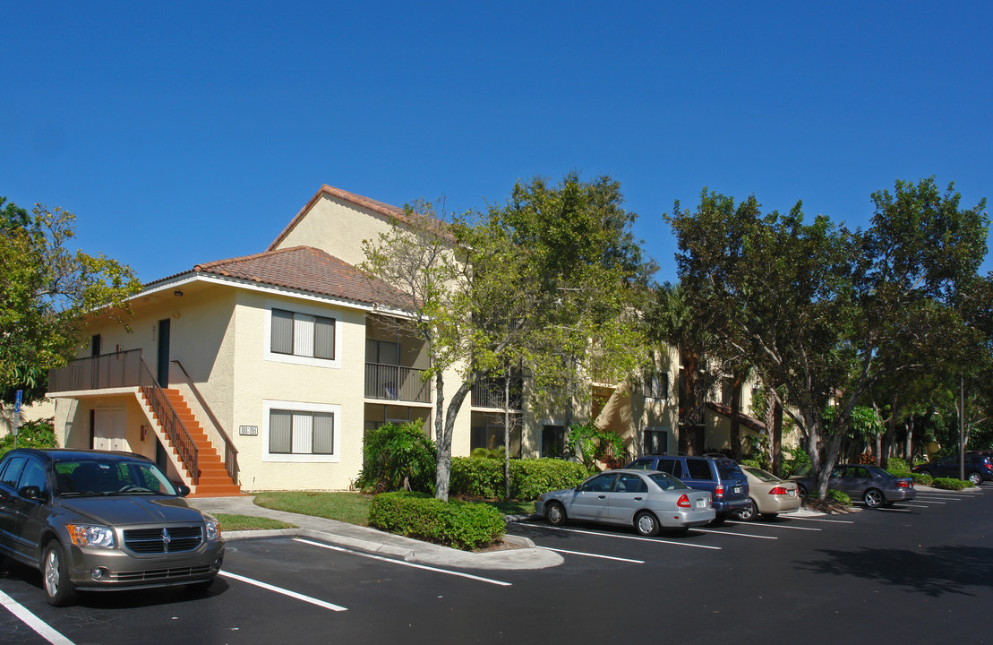
[(337, 427), (341, 406), (266, 401), (263, 411), (265, 461), (339, 460)]

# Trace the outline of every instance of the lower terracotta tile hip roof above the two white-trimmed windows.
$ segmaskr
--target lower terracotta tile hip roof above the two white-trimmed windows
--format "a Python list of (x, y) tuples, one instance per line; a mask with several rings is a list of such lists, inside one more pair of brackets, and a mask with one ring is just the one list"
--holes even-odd
[(220, 259), (197, 264), (194, 271), (368, 304), (401, 306), (405, 300), (403, 294), (385, 282), (370, 278), (352, 264), (311, 246)]

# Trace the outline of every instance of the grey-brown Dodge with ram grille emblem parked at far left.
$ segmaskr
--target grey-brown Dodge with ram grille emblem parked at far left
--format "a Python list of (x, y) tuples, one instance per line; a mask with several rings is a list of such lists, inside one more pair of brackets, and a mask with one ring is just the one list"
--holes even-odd
[(189, 492), (136, 454), (11, 450), (0, 461), (0, 555), (41, 569), (56, 606), (77, 589), (206, 588), (224, 541)]

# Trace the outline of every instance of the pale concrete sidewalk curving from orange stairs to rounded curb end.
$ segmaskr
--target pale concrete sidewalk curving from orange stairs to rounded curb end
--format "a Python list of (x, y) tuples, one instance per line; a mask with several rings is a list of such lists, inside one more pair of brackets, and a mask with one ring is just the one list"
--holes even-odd
[(224, 534), (224, 540), (228, 542), (252, 538), (300, 536), (322, 540), (346, 549), (399, 558), (408, 562), (461, 568), (530, 569), (557, 566), (563, 562), (562, 557), (557, 553), (547, 549), (539, 549), (527, 538), (509, 534), (505, 535), (503, 540), (516, 546), (516, 549), (474, 554), (395, 536), (368, 527), (338, 522), (337, 520), (273, 511), (255, 506), (254, 499), (252, 496), (242, 495), (239, 497), (190, 498), (187, 502), (207, 513), (272, 518), (300, 527), (299, 529), (281, 531), (227, 532)]

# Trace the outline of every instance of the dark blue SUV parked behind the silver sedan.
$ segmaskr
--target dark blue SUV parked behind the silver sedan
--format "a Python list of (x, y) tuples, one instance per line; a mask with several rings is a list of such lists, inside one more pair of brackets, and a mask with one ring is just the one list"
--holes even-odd
[(717, 513), (715, 522), (727, 519), (732, 512), (750, 504), (748, 478), (733, 459), (723, 455), (646, 455), (625, 468), (660, 470), (690, 488), (709, 491), (711, 505)]

